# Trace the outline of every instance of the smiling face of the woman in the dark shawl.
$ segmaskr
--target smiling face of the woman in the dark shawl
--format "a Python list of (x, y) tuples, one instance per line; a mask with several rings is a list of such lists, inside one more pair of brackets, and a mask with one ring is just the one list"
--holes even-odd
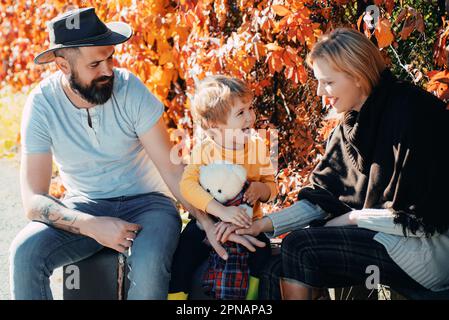
[(360, 111), (367, 96), (356, 79), (336, 71), (325, 59), (313, 62), (313, 73), (318, 80), (317, 95), (325, 104), (331, 104), (337, 113)]

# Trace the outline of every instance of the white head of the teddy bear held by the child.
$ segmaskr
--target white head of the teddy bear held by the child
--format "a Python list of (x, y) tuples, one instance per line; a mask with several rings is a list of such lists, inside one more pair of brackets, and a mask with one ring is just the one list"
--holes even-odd
[[(215, 200), (224, 205), (236, 205), (234, 203), (243, 202), (243, 192), (241, 191), (245, 187), (245, 183), (246, 170), (241, 165), (227, 161), (214, 161), (200, 167), (201, 186)], [(227, 202), (231, 203), (226, 204)], [(240, 204), (239, 206), (244, 207), (248, 216), (252, 218), (252, 207), (247, 204)]]

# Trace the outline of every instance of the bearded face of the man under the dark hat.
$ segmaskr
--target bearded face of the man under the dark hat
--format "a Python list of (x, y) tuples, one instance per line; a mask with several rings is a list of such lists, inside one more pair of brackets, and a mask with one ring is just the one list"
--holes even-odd
[(70, 86), (84, 100), (103, 104), (114, 86), (114, 46), (82, 47), (70, 63)]

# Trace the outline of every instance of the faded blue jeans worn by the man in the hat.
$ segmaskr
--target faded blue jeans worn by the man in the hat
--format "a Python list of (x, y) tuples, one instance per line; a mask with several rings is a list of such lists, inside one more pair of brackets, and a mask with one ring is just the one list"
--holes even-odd
[[(127, 259), (128, 299), (166, 299), (173, 253), (181, 218), (172, 199), (149, 193), (112, 199), (82, 196), (64, 199), (71, 209), (94, 216), (110, 216), (142, 226)], [(53, 270), (85, 259), (103, 246), (94, 239), (30, 222), (10, 248), (12, 299), (52, 299)]]

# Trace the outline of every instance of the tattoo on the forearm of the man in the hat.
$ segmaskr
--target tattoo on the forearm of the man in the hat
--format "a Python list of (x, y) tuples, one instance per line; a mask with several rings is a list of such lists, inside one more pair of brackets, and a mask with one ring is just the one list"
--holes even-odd
[(42, 195), (42, 198), (39, 198), (39, 200), (34, 203), (32, 217), (33, 220), (42, 221), (56, 228), (72, 233), (80, 233), (79, 228), (73, 226), (77, 219), (77, 215), (64, 209), (65, 206), (61, 201), (50, 195), (44, 194)]

